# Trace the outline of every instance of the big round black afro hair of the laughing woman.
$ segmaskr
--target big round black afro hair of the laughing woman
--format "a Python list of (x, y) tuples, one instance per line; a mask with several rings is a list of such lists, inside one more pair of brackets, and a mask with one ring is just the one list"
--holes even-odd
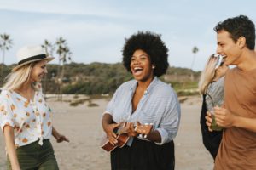
[(169, 66), (168, 48), (166, 48), (166, 44), (160, 39), (159, 34), (150, 31), (138, 31), (137, 34), (125, 39), (123, 64), (127, 71), (131, 71), (131, 57), (137, 49), (141, 49), (149, 55), (151, 64), (155, 66), (154, 76), (160, 77), (166, 73)]

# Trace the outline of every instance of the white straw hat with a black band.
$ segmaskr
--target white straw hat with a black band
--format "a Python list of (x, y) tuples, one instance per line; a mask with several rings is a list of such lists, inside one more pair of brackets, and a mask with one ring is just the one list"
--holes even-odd
[(17, 71), (18, 69), (20, 69), (20, 67), (35, 61), (47, 60), (47, 62), (49, 62), (52, 59), (54, 59), (54, 57), (46, 56), (44, 52), (44, 48), (42, 48), (40, 45), (26, 46), (26, 47), (20, 48), (20, 50), (18, 51), (17, 53), (18, 65), (16, 65), (15, 68), (12, 69), (12, 71)]

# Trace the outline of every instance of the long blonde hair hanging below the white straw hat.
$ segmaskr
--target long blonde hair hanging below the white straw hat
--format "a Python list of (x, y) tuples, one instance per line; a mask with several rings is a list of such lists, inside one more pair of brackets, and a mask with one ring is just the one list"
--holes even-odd
[[(24, 65), (20, 67), (17, 71), (10, 72), (7, 77), (5, 77), (5, 84), (3, 85), (4, 90), (15, 90), (20, 88), (25, 82), (29, 81), (32, 68), (36, 64), (36, 62), (32, 62), (31, 64)], [(37, 84), (32, 83), (32, 88), (37, 90)]]

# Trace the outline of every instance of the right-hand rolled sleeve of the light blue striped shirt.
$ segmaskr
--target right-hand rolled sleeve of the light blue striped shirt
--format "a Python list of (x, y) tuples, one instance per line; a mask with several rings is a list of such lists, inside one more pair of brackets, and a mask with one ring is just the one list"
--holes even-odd
[(156, 128), (160, 133), (161, 142), (155, 144), (165, 144), (176, 137), (180, 122), (180, 115), (181, 111), (177, 95), (172, 92), (171, 99), (166, 103), (166, 111), (162, 116), (160, 127)]

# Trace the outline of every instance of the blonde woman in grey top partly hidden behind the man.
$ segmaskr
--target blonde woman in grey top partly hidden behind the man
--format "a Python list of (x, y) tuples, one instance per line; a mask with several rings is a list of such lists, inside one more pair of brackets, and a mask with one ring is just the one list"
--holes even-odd
[[(219, 65), (218, 65), (219, 64)], [(205, 116), (216, 105), (221, 106), (224, 102), (224, 74), (229, 67), (224, 65), (220, 56), (212, 54), (207, 60), (205, 69), (201, 72), (199, 91), (203, 97), (201, 108), (201, 133), (203, 144), (215, 159), (218, 146), (222, 139), (222, 131), (209, 132)]]

